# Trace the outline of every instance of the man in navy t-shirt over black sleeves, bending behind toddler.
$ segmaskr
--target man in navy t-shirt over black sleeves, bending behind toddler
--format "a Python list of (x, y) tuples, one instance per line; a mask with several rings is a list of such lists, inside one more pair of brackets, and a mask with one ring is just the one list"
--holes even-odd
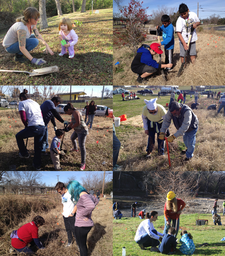
[(56, 121), (55, 118), (63, 123), (68, 125), (70, 122), (68, 121), (64, 121), (60, 114), (56, 111), (56, 107), (59, 105), (60, 103), (60, 98), (58, 96), (52, 97), (51, 99), (48, 99), (46, 101), (44, 101), (41, 105), (40, 105), (40, 109), (41, 109), (41, 113), (43, 115), (43, 120), (45, 123), (45, 134), (42, 138), (41, 141), (41, 153), (42, 155), (47, 156), (48, 154), (46, 153), (46, 148), (49, 148), (49, 143), (48, 143), (48, 136), (49, 136), (49, 132), (48, 132), (48, 124), (49, 121), (51, 120), (51, 123), (54, 126), (54, 130), (56, 131)]

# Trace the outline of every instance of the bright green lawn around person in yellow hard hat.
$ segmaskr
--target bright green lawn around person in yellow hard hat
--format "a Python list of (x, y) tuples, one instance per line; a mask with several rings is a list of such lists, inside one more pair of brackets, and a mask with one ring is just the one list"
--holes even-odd
[[(209, 225), (195, 226), (195, 220), (206, 219), (209, 220)], [(122, 247), (126, 247), (126, 255), (128, 256), (147, 256), (149, 254), (158, 255), (157, 252), (150, 252), (150, 247), (145, 251), (141, 251), (140, 247), (134, 241), (135, 233), (139, 224), (139, 218), (122, 218), (121, 220), (113, 220), (113, 256), (122, 255)], [(222, 217), (222, 224), (224, 220)], [(164, 216), (158, 216), (158, 220), (153, 222), (154, 227), (160, 233), (164, 229)], [(212, 214), (188, 214), (180, 217), (180, 229), (187, 230), (193, 236), (195, 244), (194, 255), (225, 255), (224, 241), (220, 241), (224, 237), (224, 226), (214, 226), (212, 221)], [(179, 251), (181, 243), (180, 232), (178, 232), (178, 245), (175, 255), (184, 255)], [(198, 246), (203, 243), (209, 243), (207, 247)], [(221, 245), (216, 245), (221, 244)], [(215, 247), (215, 248), (212, 248)]]

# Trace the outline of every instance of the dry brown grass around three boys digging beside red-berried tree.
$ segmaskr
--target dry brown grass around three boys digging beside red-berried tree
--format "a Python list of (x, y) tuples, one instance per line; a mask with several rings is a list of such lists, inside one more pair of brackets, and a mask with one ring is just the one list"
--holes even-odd
[[(180, 46), (178, 38), (175, 39), (173, 63), (176, 65), (172, 72), (168, 74), (165, 82), (162, 76), (150, 78), (146, 85), (154, 86), (174, 86), (174, 85), (215, 85), (221, 86), (225, 84), (224, 67), (225, 67), (225, 32), (215, 30), (204, 30), (197, 32), (198, 40), (196, 41), (197, 58), (194, 65), (189, 62), (185, 67), (185, 71), (180, 77), (176, 77), (181, 66), (180, 61)], [(220, 38), (219, 38), (220, 37)], [(216, 41), (213, 42), (213, 41)], [(209, 45), (207, 45), (209, 44)], [(217, 46), (217, 47), (215, 47)], [(158, 62), (159, 55), (154, 57)], [(130, 50), (122, 48), (116, 50), (113, 47), (113, 85), (137, 85), (137, 75), (131, 71), (131, 62), (133, 56)], [(114, 64), (119, 61), (120, 67), (124, 71), (115, 73), (117, 66)], [(164, 64), (165, 54), (162, 54), (162, 63)]]

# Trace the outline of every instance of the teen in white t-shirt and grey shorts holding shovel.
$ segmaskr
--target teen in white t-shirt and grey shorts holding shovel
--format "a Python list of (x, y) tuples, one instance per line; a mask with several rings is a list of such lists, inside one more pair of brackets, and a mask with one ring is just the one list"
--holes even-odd
[[(196, 59), (196, 46), (195, 41), (197, 40), (196, 27), (200, 25), (200, 20), (194, 12), (190, 12), (187, 5), (180, 4), (179, 6), (180, 17), (176, 22), (176, 33), (180, 41), (180, 56), (181, 62), (184, 62), (185, 51), (191, 58), (191, 62), (194, 63)], [(191, 33), (191, 26), (193, 25), (194, 31), (192, 33), (192, 38), (189, 47), (187, 46), (188, 39)]]

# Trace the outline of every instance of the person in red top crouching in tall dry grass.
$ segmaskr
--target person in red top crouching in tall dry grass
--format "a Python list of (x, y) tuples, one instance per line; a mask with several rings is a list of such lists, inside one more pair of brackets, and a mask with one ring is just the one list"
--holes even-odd
[(33, 254), (33, 250), (28, 247), (30, 243), (31, 246), (38, 246), (39, 249), (45, 249), (43, 244), (38, 238), (38, 228), (45, 223), (45, 220), (41, 216), (36, 216), (34, 219), (20, 227), (18, 230), (13, 230), (11, 234), (11, 244), (13, 248), (18, 252), (24, 252), (28, 255)]

